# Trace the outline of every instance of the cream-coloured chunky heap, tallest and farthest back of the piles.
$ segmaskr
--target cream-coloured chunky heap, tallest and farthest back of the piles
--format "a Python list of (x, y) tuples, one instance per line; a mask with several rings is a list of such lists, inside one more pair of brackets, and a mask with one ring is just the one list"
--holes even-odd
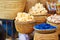
[(29, 10), (32, 15), (47, 15), (47, 10), (44, 8), (43, 4), (37, 3), (35, 6)]

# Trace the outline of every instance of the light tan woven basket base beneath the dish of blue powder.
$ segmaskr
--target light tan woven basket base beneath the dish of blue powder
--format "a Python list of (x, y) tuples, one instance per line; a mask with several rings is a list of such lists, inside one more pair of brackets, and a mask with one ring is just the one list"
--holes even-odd
[(40, 34), (38, 32), (35, 32), (34, 40), (58, 40), (58, 34), (57, 33)]

